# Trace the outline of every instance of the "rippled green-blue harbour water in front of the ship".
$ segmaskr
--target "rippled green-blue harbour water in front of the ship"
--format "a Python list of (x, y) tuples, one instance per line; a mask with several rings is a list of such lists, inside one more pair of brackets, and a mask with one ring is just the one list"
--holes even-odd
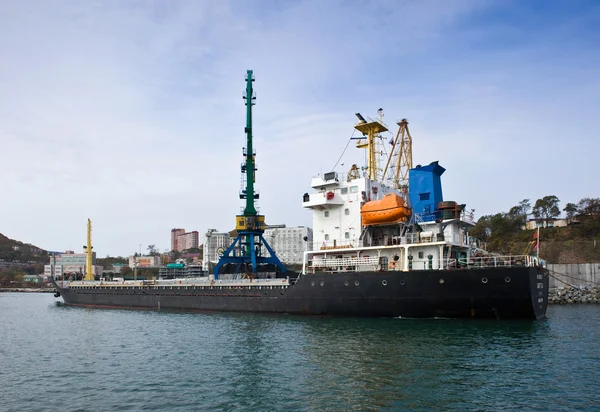
[(600, 410), (600, 305), (514, 322), (56, 301), (0, 293), (1, 411)]

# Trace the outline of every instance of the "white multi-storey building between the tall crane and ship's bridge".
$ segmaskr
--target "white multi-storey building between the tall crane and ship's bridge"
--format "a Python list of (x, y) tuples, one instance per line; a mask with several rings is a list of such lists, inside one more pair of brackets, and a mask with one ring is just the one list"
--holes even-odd
[(312, 229), (305, 226), (267, 225), (263, 237), (282, 263), (299, 265), (313, 236)]

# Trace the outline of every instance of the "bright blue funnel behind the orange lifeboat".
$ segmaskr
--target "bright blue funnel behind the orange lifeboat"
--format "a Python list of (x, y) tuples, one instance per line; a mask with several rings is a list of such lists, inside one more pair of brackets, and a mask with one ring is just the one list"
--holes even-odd
[(408, 171), (410, 205), (424, 222), (440, 217), (438, 205), (444, 200), (441, 176), (445, 171), (437, 161)]

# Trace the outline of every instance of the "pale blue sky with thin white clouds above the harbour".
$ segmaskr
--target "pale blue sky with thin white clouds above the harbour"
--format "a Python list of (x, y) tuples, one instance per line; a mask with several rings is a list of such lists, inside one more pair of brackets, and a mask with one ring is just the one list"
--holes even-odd
[(267, 223), (311, 224), (380, 107), (478, 216), (600, 196), (596, 1), (5, 1), (0, 27), (0, 232), (46, 249), (88, 217), (100, 256), (233, 228), (247, 69)]

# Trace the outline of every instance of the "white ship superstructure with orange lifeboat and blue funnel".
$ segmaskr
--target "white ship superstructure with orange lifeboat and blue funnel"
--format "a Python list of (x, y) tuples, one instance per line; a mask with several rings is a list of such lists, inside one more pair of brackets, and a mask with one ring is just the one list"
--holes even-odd
[[(357, 130), (387, 131), (378, 121), (365, 123), (357, 116), (362, 119)], [(398, 125), (406, 128), (407, 122), (403, 119)], [(372, 134), (369, 142), (375, 141)], [(389, 156), (396, 155), (392, 150)], [(377, 167), (372, 157), (369, 162)], [(408, 163), (412, 165), (412, 161)], [(313, 226), (313, 243), (305, 253), (303, 272), (441, 270), (525, 263), (522, 256), (489, 260), (485, 244), (469, 236), (475, 225), (472, 213), (465, 205), (442, 201), (440, 176), (444, 170), (437, 162), (411, 168), (414, 181), (405, 180), (399, 186), (396, 180), (398, 188), (384, 184), (377, 173), (368, 173), (368, 166), (353, 165), (347, 177), (337, 172), (314, 177), (313, 193), (305, 193), (302, 203), (312, 210)], [(408, 172), (403, 175), (407, 177)], [(420, 208), (419, 213), (414, 208)]]

